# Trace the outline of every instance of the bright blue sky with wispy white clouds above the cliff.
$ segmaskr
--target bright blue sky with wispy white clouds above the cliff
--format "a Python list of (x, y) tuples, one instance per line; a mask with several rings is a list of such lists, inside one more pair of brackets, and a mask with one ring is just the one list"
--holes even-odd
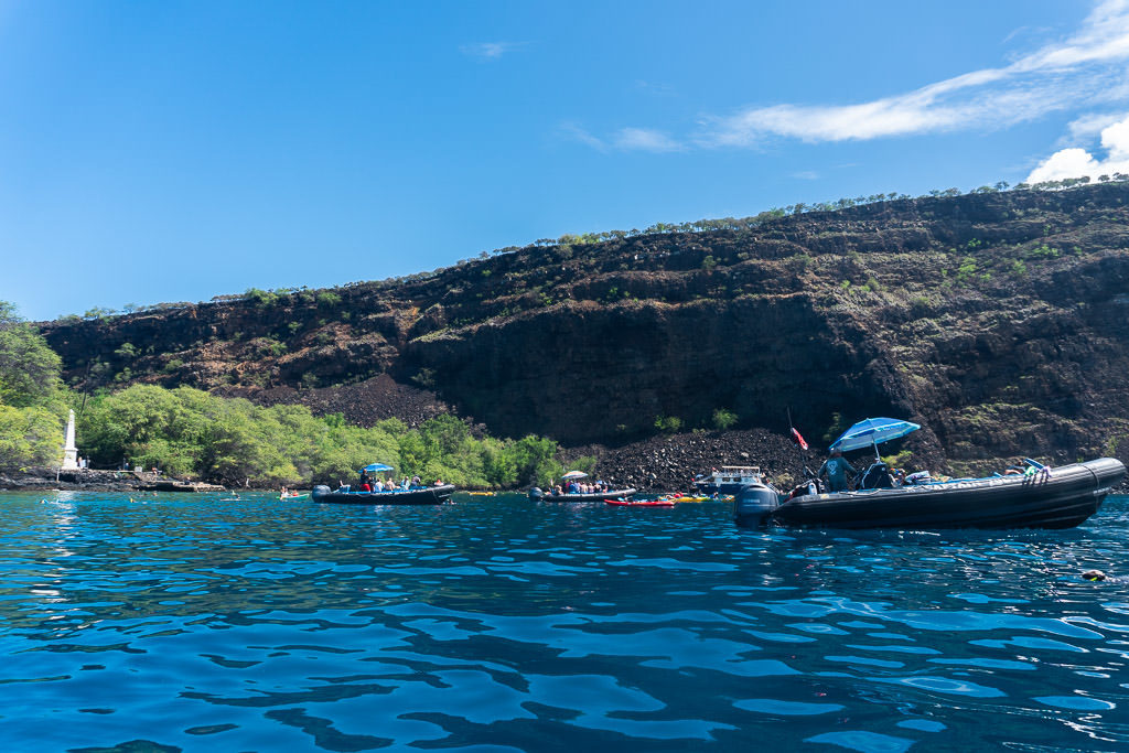
[(1129, 2), (0, 0), (0, 299), (1129, 172)]

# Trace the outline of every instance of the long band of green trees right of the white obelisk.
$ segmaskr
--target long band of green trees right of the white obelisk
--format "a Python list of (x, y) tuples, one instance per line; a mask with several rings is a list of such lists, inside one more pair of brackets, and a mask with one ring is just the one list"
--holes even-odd
[(96, 465), (126, 461), (226, 484), (349, 483), (374, 462), (400, 475), (478, 488), (525, 484), (559, 471), (555, 443), (478, 439), (452, 415), (419, 429), (399, 419), (362, 428), (338, 413), (318, 418), (304, 405), (262, 408), (192, 387), (100, 393), (87, 405), (82, 427), (80, 444)]

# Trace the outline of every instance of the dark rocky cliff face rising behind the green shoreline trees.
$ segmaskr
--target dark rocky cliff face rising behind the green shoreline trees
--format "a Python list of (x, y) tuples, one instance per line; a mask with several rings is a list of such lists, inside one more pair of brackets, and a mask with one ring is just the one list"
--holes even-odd
[[(527, 247), (422, 279), (45, 325), (82, 386), (187, 384), (371, 421), (622, 444), (657, 418), (816, 444), (867, 415), (972, 470), (1129, 449), (1129, 187), (883, 202)], [(754, 458), (755, 459), (755, 458)]]

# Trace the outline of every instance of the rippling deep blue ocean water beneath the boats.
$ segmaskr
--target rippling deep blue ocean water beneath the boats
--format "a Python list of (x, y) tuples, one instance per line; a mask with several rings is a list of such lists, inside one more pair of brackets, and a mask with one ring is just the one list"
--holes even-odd
[(0, 494), (3, 751), (1124, 751), (1129, 498), (1066, 532)]

